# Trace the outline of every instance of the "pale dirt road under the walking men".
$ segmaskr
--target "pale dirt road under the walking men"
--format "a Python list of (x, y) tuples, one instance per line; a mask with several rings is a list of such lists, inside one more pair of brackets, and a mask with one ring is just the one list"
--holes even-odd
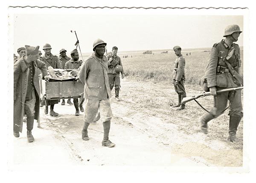
[[(198, 91), (189, 89), (188, 93)], [(112, 91), (114, 95), (114, 91)], [(186, 120), (194, 120), (187, 107), (179, 116), (168, 104), (176, 99), (172, 87), (165, 84), (122, 79), (120, 99), (111, 98), (113, 119), (110, 140), (113, 148), (103, 147), (102, 121), (89, 126), (89, 141), (82, 141), (83, 113), (75, 116), (75, 107), (55, 105), (57, 117), (44, 115), (41, 128), (35, 127), (35, 141), (26, 141), (26, 125), (20, 138), (14, 138), (14, 165), (52, 164), (52, 166), (242, 166), (242, 149), (236, 144), (212, 139), (199, 132), (197, 121), (184, 131)], [(143, 102), (142, 102), (143, 101)], [(158, 106), (158, 107), (157, 107)], [(28, 156), (32, 154), (32, 156)]]

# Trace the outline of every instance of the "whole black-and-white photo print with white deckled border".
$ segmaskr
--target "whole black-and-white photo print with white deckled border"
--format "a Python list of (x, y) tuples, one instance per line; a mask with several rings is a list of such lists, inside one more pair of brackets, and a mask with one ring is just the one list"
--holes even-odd
[(248, 13), (10, 7), (9, 169), (248, 172)]

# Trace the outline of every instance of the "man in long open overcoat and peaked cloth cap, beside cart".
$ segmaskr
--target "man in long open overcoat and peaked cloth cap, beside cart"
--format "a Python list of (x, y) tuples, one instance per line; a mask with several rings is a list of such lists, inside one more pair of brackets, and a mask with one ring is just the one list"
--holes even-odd
[[(46, 64), (38, 60), (39, 46), (32, 47), (25, 45), (26, 55), (22, 56), (14, 65), (14, 114), (13, 114), (13, 135), (19, 137), (23, 127), (23, 116), (26, 114), (27, 139), (33, 142), (32, 129), (34, 119), (39, 119), (40, 88), (38, 69), (42, 77), (49, 80)], [(17, 113), (19, 111), (19, 113)]]

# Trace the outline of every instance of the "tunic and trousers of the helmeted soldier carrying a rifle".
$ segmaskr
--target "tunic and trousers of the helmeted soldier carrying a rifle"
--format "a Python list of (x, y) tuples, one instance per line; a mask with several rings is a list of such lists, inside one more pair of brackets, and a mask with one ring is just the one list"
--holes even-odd
[[(208, 87), (216, 87), (217, 90), (220, 90), (240, 85), (233, 80), (233, 76), (224, 62), (225, 60), (239, 73), (239, 67), (241, 66), (239, 45), (233, 43), (229, 47), (224, 40), (213, 45), (206, 70)], [(229, 115), (242, 116), (241, 90), (236, 90), (217, 93), (214, 96), (214, 107), (210, 111), (212, 114), (206, 113), (203, 117), (210, 121), (212, 118), (221, 115), (221, 112), (227, 107), (228, 100), (230, 101)]]

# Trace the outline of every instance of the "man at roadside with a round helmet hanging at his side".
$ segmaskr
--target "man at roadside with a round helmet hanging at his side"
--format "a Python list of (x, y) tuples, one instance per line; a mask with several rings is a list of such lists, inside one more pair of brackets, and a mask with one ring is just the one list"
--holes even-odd
[[(114, 46), (112, 48), (112, 54), (108, 55), (108, 79), (110, 90), (113, 89), (115, 85), (115, 94), (116, 101), (120, 101), (119, 99), (119, 90), (120, 90), (120, 76), (119, 73), (122, 74), (122, 79), (125, 77), (124, 69), (122, 67), (122, 61), (119, 56), (116, 55), (118, 48)], [(121, 67), (120, 67), (121, 66)]]

